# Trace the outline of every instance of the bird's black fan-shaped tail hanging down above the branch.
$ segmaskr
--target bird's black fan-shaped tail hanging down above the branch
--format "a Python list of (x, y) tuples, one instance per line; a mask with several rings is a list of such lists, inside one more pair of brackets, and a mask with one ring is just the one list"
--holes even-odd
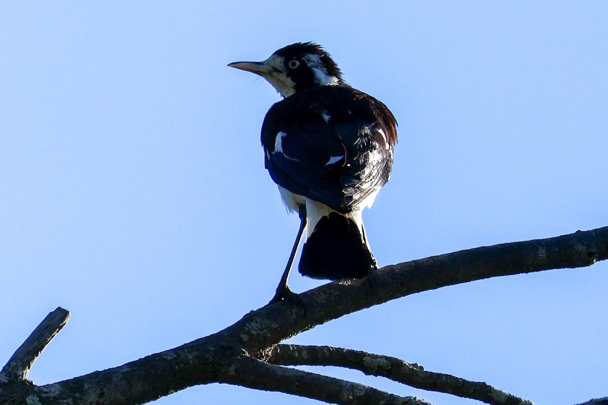
[(362, 279), (377, 268), (365, 239), (353, 219), (339, 213), (322, 217), (302, 249), (300, 273), (315, 279)]

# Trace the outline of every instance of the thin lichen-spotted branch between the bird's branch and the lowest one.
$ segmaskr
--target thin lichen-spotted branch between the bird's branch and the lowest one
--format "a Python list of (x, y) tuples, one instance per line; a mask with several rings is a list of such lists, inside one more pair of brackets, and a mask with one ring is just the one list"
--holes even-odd
[(359, 350), (330, 346), (279, 344), (268, 362), (282, 366), (336, 366), (359, 370), (367, 375), (390, 378), (412, 387), (450, 393), (492, 405), (534, 405), (530, 401), (496, 389), (489, 384), (468, 381), (449, 374), (429, 372), (401, 359)]

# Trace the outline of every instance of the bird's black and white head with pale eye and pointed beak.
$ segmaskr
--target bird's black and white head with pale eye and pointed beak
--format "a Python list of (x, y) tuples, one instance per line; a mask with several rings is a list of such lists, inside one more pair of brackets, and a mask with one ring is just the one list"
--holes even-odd
[(283, 97), (312, 86), (344, 84), (342, 72), (325, 49), (311, 42), (288, 45), (261, 62), (233, 62), (228, 66), (268, 80)]

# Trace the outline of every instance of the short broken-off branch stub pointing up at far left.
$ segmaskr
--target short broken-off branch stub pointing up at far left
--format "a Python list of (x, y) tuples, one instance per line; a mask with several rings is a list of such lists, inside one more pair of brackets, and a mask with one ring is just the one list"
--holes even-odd
[(50, 312), (2, 367), (0, 381), (25, 379), (40, 353), (59, 333), (69, 318), (70, 313), (61, 307)]

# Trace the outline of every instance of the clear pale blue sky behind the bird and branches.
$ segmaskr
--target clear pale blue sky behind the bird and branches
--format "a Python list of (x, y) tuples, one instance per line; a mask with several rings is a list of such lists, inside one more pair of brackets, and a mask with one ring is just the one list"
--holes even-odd
[[(608, 225), (607, 21), (605, 1), (2, 2), (0, 361), (57, 306), (72, 318), (36, 384), (209, 335), (272, 298), (298, 226), (260, 148), (280, 97), (226, 64), (294, 42), (326, 47), (399, 121), (392, 179), (364, 214), (380, 265)], [(442, 288), (291, 342), (581, 403), (608, 395), (607, 270)], [(212, 384), (156, 403), (313, 401)]]

